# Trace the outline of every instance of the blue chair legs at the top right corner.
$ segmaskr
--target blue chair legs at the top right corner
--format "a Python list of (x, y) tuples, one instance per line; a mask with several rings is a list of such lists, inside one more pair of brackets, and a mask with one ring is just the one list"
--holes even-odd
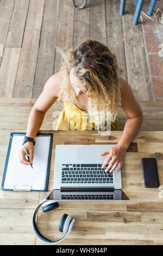
[[(153, 9), (155, 7), (156, 1), (157, 0), (151, 0), (151, 4), (149, 5), (149, 9), (148, 9), (148, 15), (149, 16), (151, 16), (152, 13), (153, 13)], [(135, 0), (135, 2), (134, 2), (134, 5), (136, 6), (136, 9), (135, 9), (135, 14), (134, 14), (134, 19), (133, 19), (133, 25), (137, 25), (137, 22), (139, 20), (140, 13), (141, 13), (141, 10), (142, 10), (143, 2), (144, 2), (144, 0)], [(120, 15), (124, 14), (125, 5), (126, 5), (126, 0), (121, 0)]]

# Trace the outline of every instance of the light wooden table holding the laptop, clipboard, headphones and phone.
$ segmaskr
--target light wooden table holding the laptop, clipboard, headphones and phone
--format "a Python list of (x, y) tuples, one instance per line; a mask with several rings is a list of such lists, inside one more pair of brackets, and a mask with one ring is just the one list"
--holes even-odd
[[(1, 181), (10, 132), (0, 131)], [(26, 130), (19, 130), (26, 132)], [(53, 150), (49, 192), (53, 189), (54, 152), (57, 144), (116, 144), (122, 131), (102, 136), (97, 131), (53, 132)], [(57, 245), (161, 245), (163, 243), (163, 191), (145, 188), (141, 168), (142, 157), (155, 157), (160, 185), (163, 185), (163, 131), (139, 131), (127, 150), (122, 174), (122, 190), (128, 201), (59, 202), (57, 210), (43, 214), (39, 210), (38, 227), (49, 239), (58, 240), (61, 216), (76, 219), (67, 239)], [(163, 188), (162, 188), (163, 189)], [(33, 211), (49, 192), (0, 193), (0, 243), (2, 245), (46, 245), (32, 229)], [(161, 198), (162, 192), (162, 198)]]

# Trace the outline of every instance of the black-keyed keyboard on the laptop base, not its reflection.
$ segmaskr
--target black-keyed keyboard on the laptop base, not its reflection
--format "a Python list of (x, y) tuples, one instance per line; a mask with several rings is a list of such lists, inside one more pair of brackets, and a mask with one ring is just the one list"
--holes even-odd
[(105, 173), (102, 163), (93, 164), (77, 164), (77, 163), (63, 163), (61, 183), (114, 183), (113, 174)]

